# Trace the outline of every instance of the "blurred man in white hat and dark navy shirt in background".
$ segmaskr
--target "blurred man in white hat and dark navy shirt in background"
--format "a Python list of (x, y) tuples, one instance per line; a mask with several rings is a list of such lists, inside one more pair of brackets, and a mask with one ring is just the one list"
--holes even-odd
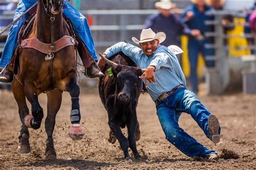
[(171, 13), (172, 9), (176, 8), (170, 0), (161, 0), (155, 3), (159, 13), (149, 16), (145, 20), (145, 28), (151, 28), (154, 32), (166, 33), (167, 39), (161, 45), (180, 46), (180, 36), (185, 34), (187, 36), (198, 36), (199, 30), (190, 30), (188, 27), (181, 22), (181, 18)]

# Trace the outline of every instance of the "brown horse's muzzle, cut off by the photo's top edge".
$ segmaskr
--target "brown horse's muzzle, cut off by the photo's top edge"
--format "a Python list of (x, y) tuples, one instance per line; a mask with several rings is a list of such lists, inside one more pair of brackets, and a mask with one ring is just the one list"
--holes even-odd
[(63, 6), (64, 0), (43, 0), (46, 12), (57, 15)]

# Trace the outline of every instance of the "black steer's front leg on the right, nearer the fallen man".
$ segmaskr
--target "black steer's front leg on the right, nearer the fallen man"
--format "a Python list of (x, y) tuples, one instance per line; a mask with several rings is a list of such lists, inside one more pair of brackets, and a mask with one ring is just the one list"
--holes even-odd
[(130, 113), (130, 115), (131, 115), (130, 122), (127, 124), (129, 146), (133, 152), (134, 158), (138, 159), (140, 158), (140, 155), (137, 151), (136, 137), (135, 137), (135, 131), (138, 125), (136, 111), (133, 111), (132, 113)]

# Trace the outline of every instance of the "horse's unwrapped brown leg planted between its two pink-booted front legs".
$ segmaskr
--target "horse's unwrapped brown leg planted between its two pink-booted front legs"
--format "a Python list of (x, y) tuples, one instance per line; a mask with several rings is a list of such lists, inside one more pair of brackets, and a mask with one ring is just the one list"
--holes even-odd
[(55, 126), (56, 114), (62, 103), (62, 91), (55, 89), (49, 91), (47, 94), (47, 117), (45, 119), (45, 131), (47, 133), (45, 156), (46, 159), (56, 159), (56, 152), (53, 144), (52, 133)]

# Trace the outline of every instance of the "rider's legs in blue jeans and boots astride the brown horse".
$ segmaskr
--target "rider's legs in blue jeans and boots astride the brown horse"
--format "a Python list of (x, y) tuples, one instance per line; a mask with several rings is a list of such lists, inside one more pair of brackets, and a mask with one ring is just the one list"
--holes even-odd
[[(14, 19), (21, 16), (36, 2), (37, 0), (19, 0), (17, 9), (15, 11)], [(87, 19), (66, 1), (64, 2), (63, 13), (65, 17), (71, 20), (73, 29), (75, 30), (79, 39), (82, 41), (82, 48), (85, 48), (84, 50), (82, 48), (78, 49), (82, 60), (84, 51), (88, 51), (90, 53), (89, 59), (91, 65), (86, 69), (85, 75), (91, 78), (104, 76), (104, 74), (100, 72), (97, 65), (95, 64), (98, 58), (95, 53), (95, 46), (92, 40), (92, 35), (89, 29), (89, 25), (87, 23)], [(0, 72), (2, 71), (0, 74), (1, 82), (9, 83), (12, 82), (14, 79), (14, 73), (12, 73), (11, 70), (6, 67), (6, 65), (10, 62), (11, 56), (14, 54), (15, 48), (18, 44), (18, 32), (24, 24), (26, 18), (28, 17), (29, 14), (26, 14), (24, 17), (19, 19), (18, 22), (11, 26), (8, 34), (8, 39), (3, 49), (2, 58), (0, 60)]]

